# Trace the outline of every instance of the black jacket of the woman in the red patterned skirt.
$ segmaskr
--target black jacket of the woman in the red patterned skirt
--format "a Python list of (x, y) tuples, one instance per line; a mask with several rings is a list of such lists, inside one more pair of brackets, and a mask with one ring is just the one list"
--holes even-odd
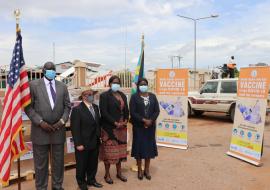
[[(127, 97), (123, 92), (118, 91), (121, 95), (125, 108), (123, 110), (124, 120), (129, 118), (129, 110), (127, 104)], [(120, 102), (113, 96), (112, 90), (103, 92), (99, 99), (99, 108), (102, 119), (102, 127), (104, 129), (115, 128), (114, 122), (118, 122), (121, 118)]]

